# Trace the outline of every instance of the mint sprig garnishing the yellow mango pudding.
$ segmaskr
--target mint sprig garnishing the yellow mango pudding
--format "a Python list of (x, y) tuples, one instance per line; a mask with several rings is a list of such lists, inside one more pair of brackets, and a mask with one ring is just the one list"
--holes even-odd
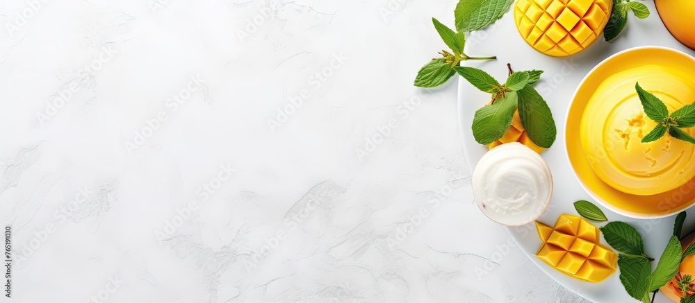
[(664, 137), (668, 132), (675, 139), (695, 144), (695, 138), (685, 132), (685, 130), (682, 130), (682, 128), (695, 126), (695, 102), (684, 105), (669, 114), (666, 104), (657, 96), (654, 96), (654, 94), (642, 89), (639, 83), (635, 83), (635, 90), (637, 90), (637, 96), (639, 96), (639, 101), (642, 103), (644, 114), (649, 119), (659, 123), (647, 135), (642, 137), (641, 141), (643, 143), (656, 141)]

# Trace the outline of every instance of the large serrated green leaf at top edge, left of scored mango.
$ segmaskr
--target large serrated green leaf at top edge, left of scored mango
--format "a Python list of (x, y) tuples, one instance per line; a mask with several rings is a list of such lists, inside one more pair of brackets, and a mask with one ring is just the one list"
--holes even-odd
[(459, 0), (454, 10), (456, 30), (479, 30), (500, 19), (514, 0)]

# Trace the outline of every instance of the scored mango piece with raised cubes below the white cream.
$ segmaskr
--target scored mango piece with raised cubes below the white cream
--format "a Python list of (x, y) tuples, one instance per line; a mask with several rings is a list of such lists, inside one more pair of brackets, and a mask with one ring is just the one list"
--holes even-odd
[(594, 283), (615, 272), (618, 256), (600, 244), (600, 232), (589, 221), (562, 214), (555, 227), (536, 221), (536, 229), (543, 241), (536, 257), (556, 270)]

